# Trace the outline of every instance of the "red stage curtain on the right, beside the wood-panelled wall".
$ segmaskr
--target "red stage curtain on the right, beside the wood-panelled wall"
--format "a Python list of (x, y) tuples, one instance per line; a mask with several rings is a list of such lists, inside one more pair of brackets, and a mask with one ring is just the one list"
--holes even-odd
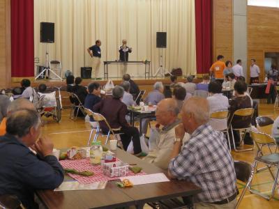
[(211, 67), (211, 0), (195, 0), (197, 74)]

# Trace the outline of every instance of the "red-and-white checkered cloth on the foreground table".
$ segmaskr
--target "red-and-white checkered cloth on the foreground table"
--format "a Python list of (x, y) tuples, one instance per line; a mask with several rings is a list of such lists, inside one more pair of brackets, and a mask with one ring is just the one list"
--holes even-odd
[[(61, 160), (59, 161), (63, 168), (67, 169), (76, 169), (77, 171), (92, 171), (94, 173), (93, 176), (79, 176), (75, 174), (68, 173), (68, 175), (79, 183), (82, 184), (89, 184), (89, 183), (96, 183), (105, 180), (117, 180), (120, 177), (110, 178), (109, 176), (105, 176), (103, 174), (103, 170), (100, 168), (100, 165), (93, 166), (90, 164), (90, 158), (82, 159), (82, 160)], [(132, 171), (128, 171), (127, 176), (137, 176), (137, 175), (144, 175), (143, 171), (140, 173), (133, 173)]]

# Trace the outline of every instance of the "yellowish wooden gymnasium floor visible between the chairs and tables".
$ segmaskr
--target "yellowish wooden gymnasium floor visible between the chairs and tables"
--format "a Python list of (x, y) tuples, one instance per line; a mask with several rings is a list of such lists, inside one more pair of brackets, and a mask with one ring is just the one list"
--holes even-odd
[[(279, 115), (279, 109), (273, 109), (272, 104), (259, 104), (259, 115), (269, 115), (276, 118)], [(86, 146), (89, 138), (90, 126), (84, 120), (77, 118), (77, 121), (72, 121), (69, 118), (69, 109), (63, 109), (62, 119), (60, 123), (56, 123), (52, 118), (43, 118), (45, 125), (43, 127), (43, 134), (48, 134), (54, 141), (55, 148), (67, 148), (70, 146)], [(255, 150), (235, 153), (232, 151), (234, 160), (243, 160), (252, 162), (255, 156)], [(254, 189), (263, 191), (266, 194), (271, 192), (273, 180), (268, 171), (256, 173), (252, 184)], [(243, 188), (243, 183), (237, 184), (239, 192)], [(246, 192), (246, 195), (241, 202), (240, 208), (245, 209), (263, 209), (263, 208), (279, 208), (279, 188), (276, 188), (275, 199), (266, 201), (260, 196)], [(149, 208), (146, 206), (146, 208)]]

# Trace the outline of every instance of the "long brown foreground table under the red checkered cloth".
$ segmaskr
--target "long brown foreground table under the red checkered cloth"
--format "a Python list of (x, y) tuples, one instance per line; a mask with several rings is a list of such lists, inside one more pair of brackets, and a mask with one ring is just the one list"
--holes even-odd
[[(162, 169), (148, 164), (121, 149), (114, 151), (116, 157), (129, 164), (137, 164), (145, 173), (165, 173)], [(68, 177), (67, 177), (68, 178)], [(163, 183), (135, 185), (119, 188), (115, 181), (109, 181), (105, 189), (54, 192), (39, 190), (36, 192), (40, 201), (47, 208), (118, 208), (136, 206), (143, 208), (145, 203), (170, 199), (178, 196), (193, 196), (202, 190), (185, 180), (171, 180)]]

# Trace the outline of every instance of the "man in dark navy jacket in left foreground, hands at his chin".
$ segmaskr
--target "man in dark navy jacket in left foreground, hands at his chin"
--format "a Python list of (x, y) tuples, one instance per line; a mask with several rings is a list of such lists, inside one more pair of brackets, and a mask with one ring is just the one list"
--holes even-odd
[(40, 137), (40, 116), (36, 111), (15, 111), (8, 116), (6, 125), (7, 134), (0, 137), (0, 195), (15, 194), (25, 208), (38, 208), (34, 191), (59, 187), (63, 168), (52, 155), (52, 141)]

